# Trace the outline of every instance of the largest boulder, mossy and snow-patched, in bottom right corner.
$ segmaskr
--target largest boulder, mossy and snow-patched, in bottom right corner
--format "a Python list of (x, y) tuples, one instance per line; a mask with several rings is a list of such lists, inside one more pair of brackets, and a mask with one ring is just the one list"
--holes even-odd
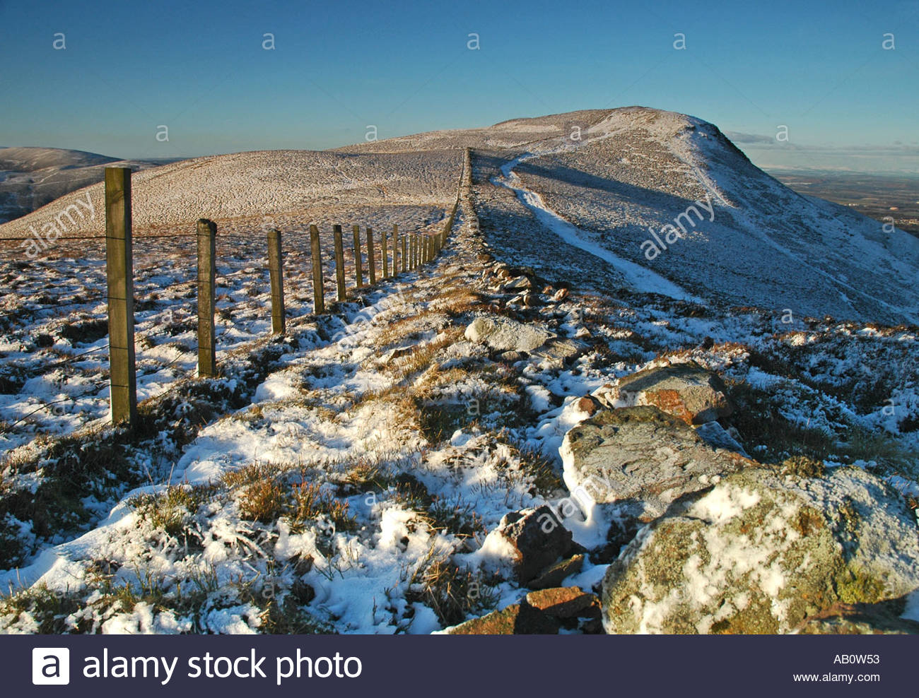
[(608, 633), (786, 633), (919, 588), (916, 518), (855, 467), (749, 468), (641, 529), (603, 582)]

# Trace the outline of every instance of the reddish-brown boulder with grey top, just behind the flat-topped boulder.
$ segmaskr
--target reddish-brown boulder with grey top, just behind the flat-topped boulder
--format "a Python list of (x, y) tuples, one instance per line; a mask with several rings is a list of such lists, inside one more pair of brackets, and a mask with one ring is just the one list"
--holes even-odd
[(696, 362), (655, 366), (619, 378), (602, 393), (609, 407), (653, 405), (687, 424), (712, 422), (733, 411), (727, 388), (717, 374)]

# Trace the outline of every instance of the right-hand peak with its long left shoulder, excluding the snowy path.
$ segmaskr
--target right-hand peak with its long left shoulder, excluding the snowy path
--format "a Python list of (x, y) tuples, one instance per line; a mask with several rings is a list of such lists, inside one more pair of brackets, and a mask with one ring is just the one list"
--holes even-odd
[[(434, 145), (474, 149), (483, 230), (521, 264), (601, 288), (646, 290), (623, 274), (625, 265), (607, 264), (611, 253), (711, 302), (919, 322), (919, 240), (801, 197), (699, 118), (646, 107), (587, 110), (348, 150)], [(523, 155), (534, 157), (513, 174), (539, 206), (498, 188), (505, 165)], [(546, 224), (559, 217), (580, 231), (576, 244)], [(607, 253), (588, 252), (596, 245)]]

